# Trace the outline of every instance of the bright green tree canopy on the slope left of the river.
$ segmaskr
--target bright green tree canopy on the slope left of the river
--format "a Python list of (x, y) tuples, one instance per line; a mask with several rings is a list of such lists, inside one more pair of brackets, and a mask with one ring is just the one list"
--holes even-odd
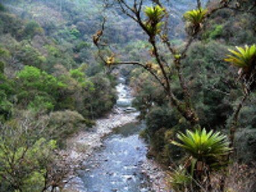
[(17, 94), (21, 108), (32, 108), (35, 111), (51, 111), (67, 85), (56, 77), (42, 72), (34, 66), (24, 66), (16, 78), (20, 87)]

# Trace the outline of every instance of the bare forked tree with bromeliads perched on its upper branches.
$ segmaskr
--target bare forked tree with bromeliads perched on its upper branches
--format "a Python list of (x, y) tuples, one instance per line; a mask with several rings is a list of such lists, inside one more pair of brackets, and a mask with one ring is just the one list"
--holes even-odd
[[(191, 95), (191, 89), (188, 86), (187, 80), (184, 77), (184, 59), (187, 57), (188, 48), (191, 46), (192, 41), (196, 39), (199, 35), (199, 31), (201, 30), (204, 23), (207, 23), (207, 19), (210, 15), (212, 15), (215, 11), (222, 9), (234, 9), (240, 10), (240, 7), (234, 7), (232, 3), (217, 3), (216, 6), (211, 7), (211, 10), (203, 10), (201, 8), (201, 2), (197, 1), (197, 10), (187, 11), (184, 14), (184, 18), (187, 20), (189, 26), (191, 27), (191, 32), (189, 32), (187, 43), (181, 47), (176, 48), (171, 45), (170, 39), (168, 38), (168, 20), (164, 18), (168, 18), (168, 12), (164, 11), (164, 7), (162, 3), (159, 1), (156, 2), (158, 5), (152, 5), (152, 7), (146, 7), (143, 10), (143, 1), (134, 3), (127, 3), (125, 1), (114, 1), (121, 11), (133, 19), (135, 22), (139, 24), (142, 30), (149, 37), (148, 42), (151, 47), (151, 54), (154, 57), (154, 62), (143, 62), (138, 61), (128, 61), (128, 62), (117, 62), (114, 59), (114, 55), (100, 57), (104, 60), (107, 66), (118, 65), (118, 64), (133, 64), (141, 66), (146, 69), (152, 77), (158, 81), (159, 85), (161, 85), (167, 94), (168, 99), (170, 99), (170, 103), (173, 107), (176, 108), (177, 111), (180, 112), (180, 115), (185, 118), (192, 127), (200, 127), (200, 119), (195, 110), (195, 103), (193, 103), (193, 98)], [(130, 6), (132, 5), (133, 6)], [(241, 10), (246, 11), (246, 10)], [(248, 10), (250, 11), (250, 10)], [(143, 15), (143, 12), (145, 15)], [(253, 14), (253, 13), (252, 13)], [(161, 23), (160, 23), (161, 22)], [(164, 22), (164, 23), (162, 23)], [(157, 26), (158, 24), (164, 24), (164, 28), (160, 30)], [(101, 37), (103, 35), (103, 31), (105, 28), (105, 21), (102, 23), (102, 30), (93, 36), (94, 44), (100, 49), (102, 46), (105, 46), (101, 42)], [(156, 38), (158, 36), (158, 38)], [(167, 59), (163, 57), (161, 52), (158, 40), (161, 40), (164, 45), (167, 47), (167, 51), (172, 56)], [(151, 64), (150, 64), (151, 63)], [(152, 66), (156, 65), (158, 70), (155, 70)], [(176, 77), (176, 78), (175, 78)], [(179, 91), (176, 92), (174, 89), (174, 84), (172, 82), (177, 80), (177, 85), (179, 85)]]

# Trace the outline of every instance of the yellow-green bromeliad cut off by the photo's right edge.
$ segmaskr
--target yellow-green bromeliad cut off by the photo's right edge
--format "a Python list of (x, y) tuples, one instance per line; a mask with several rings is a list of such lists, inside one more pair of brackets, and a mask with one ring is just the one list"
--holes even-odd
[(224, 61), (230, 62), (233, 66), (240, 68), (238, 70), (238, 80), (245, 77), (243, 80), (246, 84), (247, 90), (253, 90), (256, 86), (256, 48), (255, 44), (249, 48), (245, 45), (245, 49), (242, 47), (236, 47), (237, 51), (228, 49), (233, 55), (227, 55), (228, 58)]

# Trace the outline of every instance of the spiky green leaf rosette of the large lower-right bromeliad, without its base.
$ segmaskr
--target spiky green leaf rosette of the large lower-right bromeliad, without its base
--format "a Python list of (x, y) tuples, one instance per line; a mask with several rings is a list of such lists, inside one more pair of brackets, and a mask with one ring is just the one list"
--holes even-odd
[(225, 135), (220, 132), (213, 133), (213, 130), (207, 133), (205, 128), (203, 131), (196, 129), (195, 132), (186, 130), (186, 135), (177, 133), (177, 138), (182, 143), (171, 143), (184, 148), (197, 161), (203, 161), (208, 165), (217, 161), (217, 157), (227, 155), (231, 150)]

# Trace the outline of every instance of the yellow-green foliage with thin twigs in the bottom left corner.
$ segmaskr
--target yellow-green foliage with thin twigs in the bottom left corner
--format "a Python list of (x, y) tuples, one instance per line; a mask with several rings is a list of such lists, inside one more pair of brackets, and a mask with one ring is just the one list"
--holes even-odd
[[(1, 124), (0, 181), (2, 190), (41, 191), (56, 141), (38, 138), (32, 123)], [(33, 138), (34, 137), (34, 138)]]

